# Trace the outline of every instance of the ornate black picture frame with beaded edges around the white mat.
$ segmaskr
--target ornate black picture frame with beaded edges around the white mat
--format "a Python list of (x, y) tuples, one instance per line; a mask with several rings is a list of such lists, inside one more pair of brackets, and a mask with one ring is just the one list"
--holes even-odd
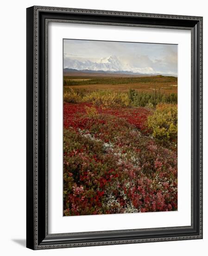
[[(191, 31), (191, 226), (48, 234), (48, 22)], [(27, 8), (27, 231), (30, 249), (202, 239), (202, 17)]]

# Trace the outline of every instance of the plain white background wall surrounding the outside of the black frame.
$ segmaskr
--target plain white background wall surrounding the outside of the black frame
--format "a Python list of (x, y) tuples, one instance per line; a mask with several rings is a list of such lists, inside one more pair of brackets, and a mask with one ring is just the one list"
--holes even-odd
[[(26, 7), (33, 5), (203, 16), (204, 239), (32, 251), (25, 248)], [(0, 13), (0, 253), (1, 255), (206, 255), (208, 243), (208, 14), (206, 1), (3, 1)]]

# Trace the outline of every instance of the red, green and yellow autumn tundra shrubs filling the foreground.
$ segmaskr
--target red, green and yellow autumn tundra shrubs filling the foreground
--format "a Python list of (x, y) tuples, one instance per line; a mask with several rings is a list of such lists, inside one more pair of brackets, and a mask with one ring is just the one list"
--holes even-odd
[(103, 95), (64, 101), (64, 216), (177, 210), (176, 105)]

